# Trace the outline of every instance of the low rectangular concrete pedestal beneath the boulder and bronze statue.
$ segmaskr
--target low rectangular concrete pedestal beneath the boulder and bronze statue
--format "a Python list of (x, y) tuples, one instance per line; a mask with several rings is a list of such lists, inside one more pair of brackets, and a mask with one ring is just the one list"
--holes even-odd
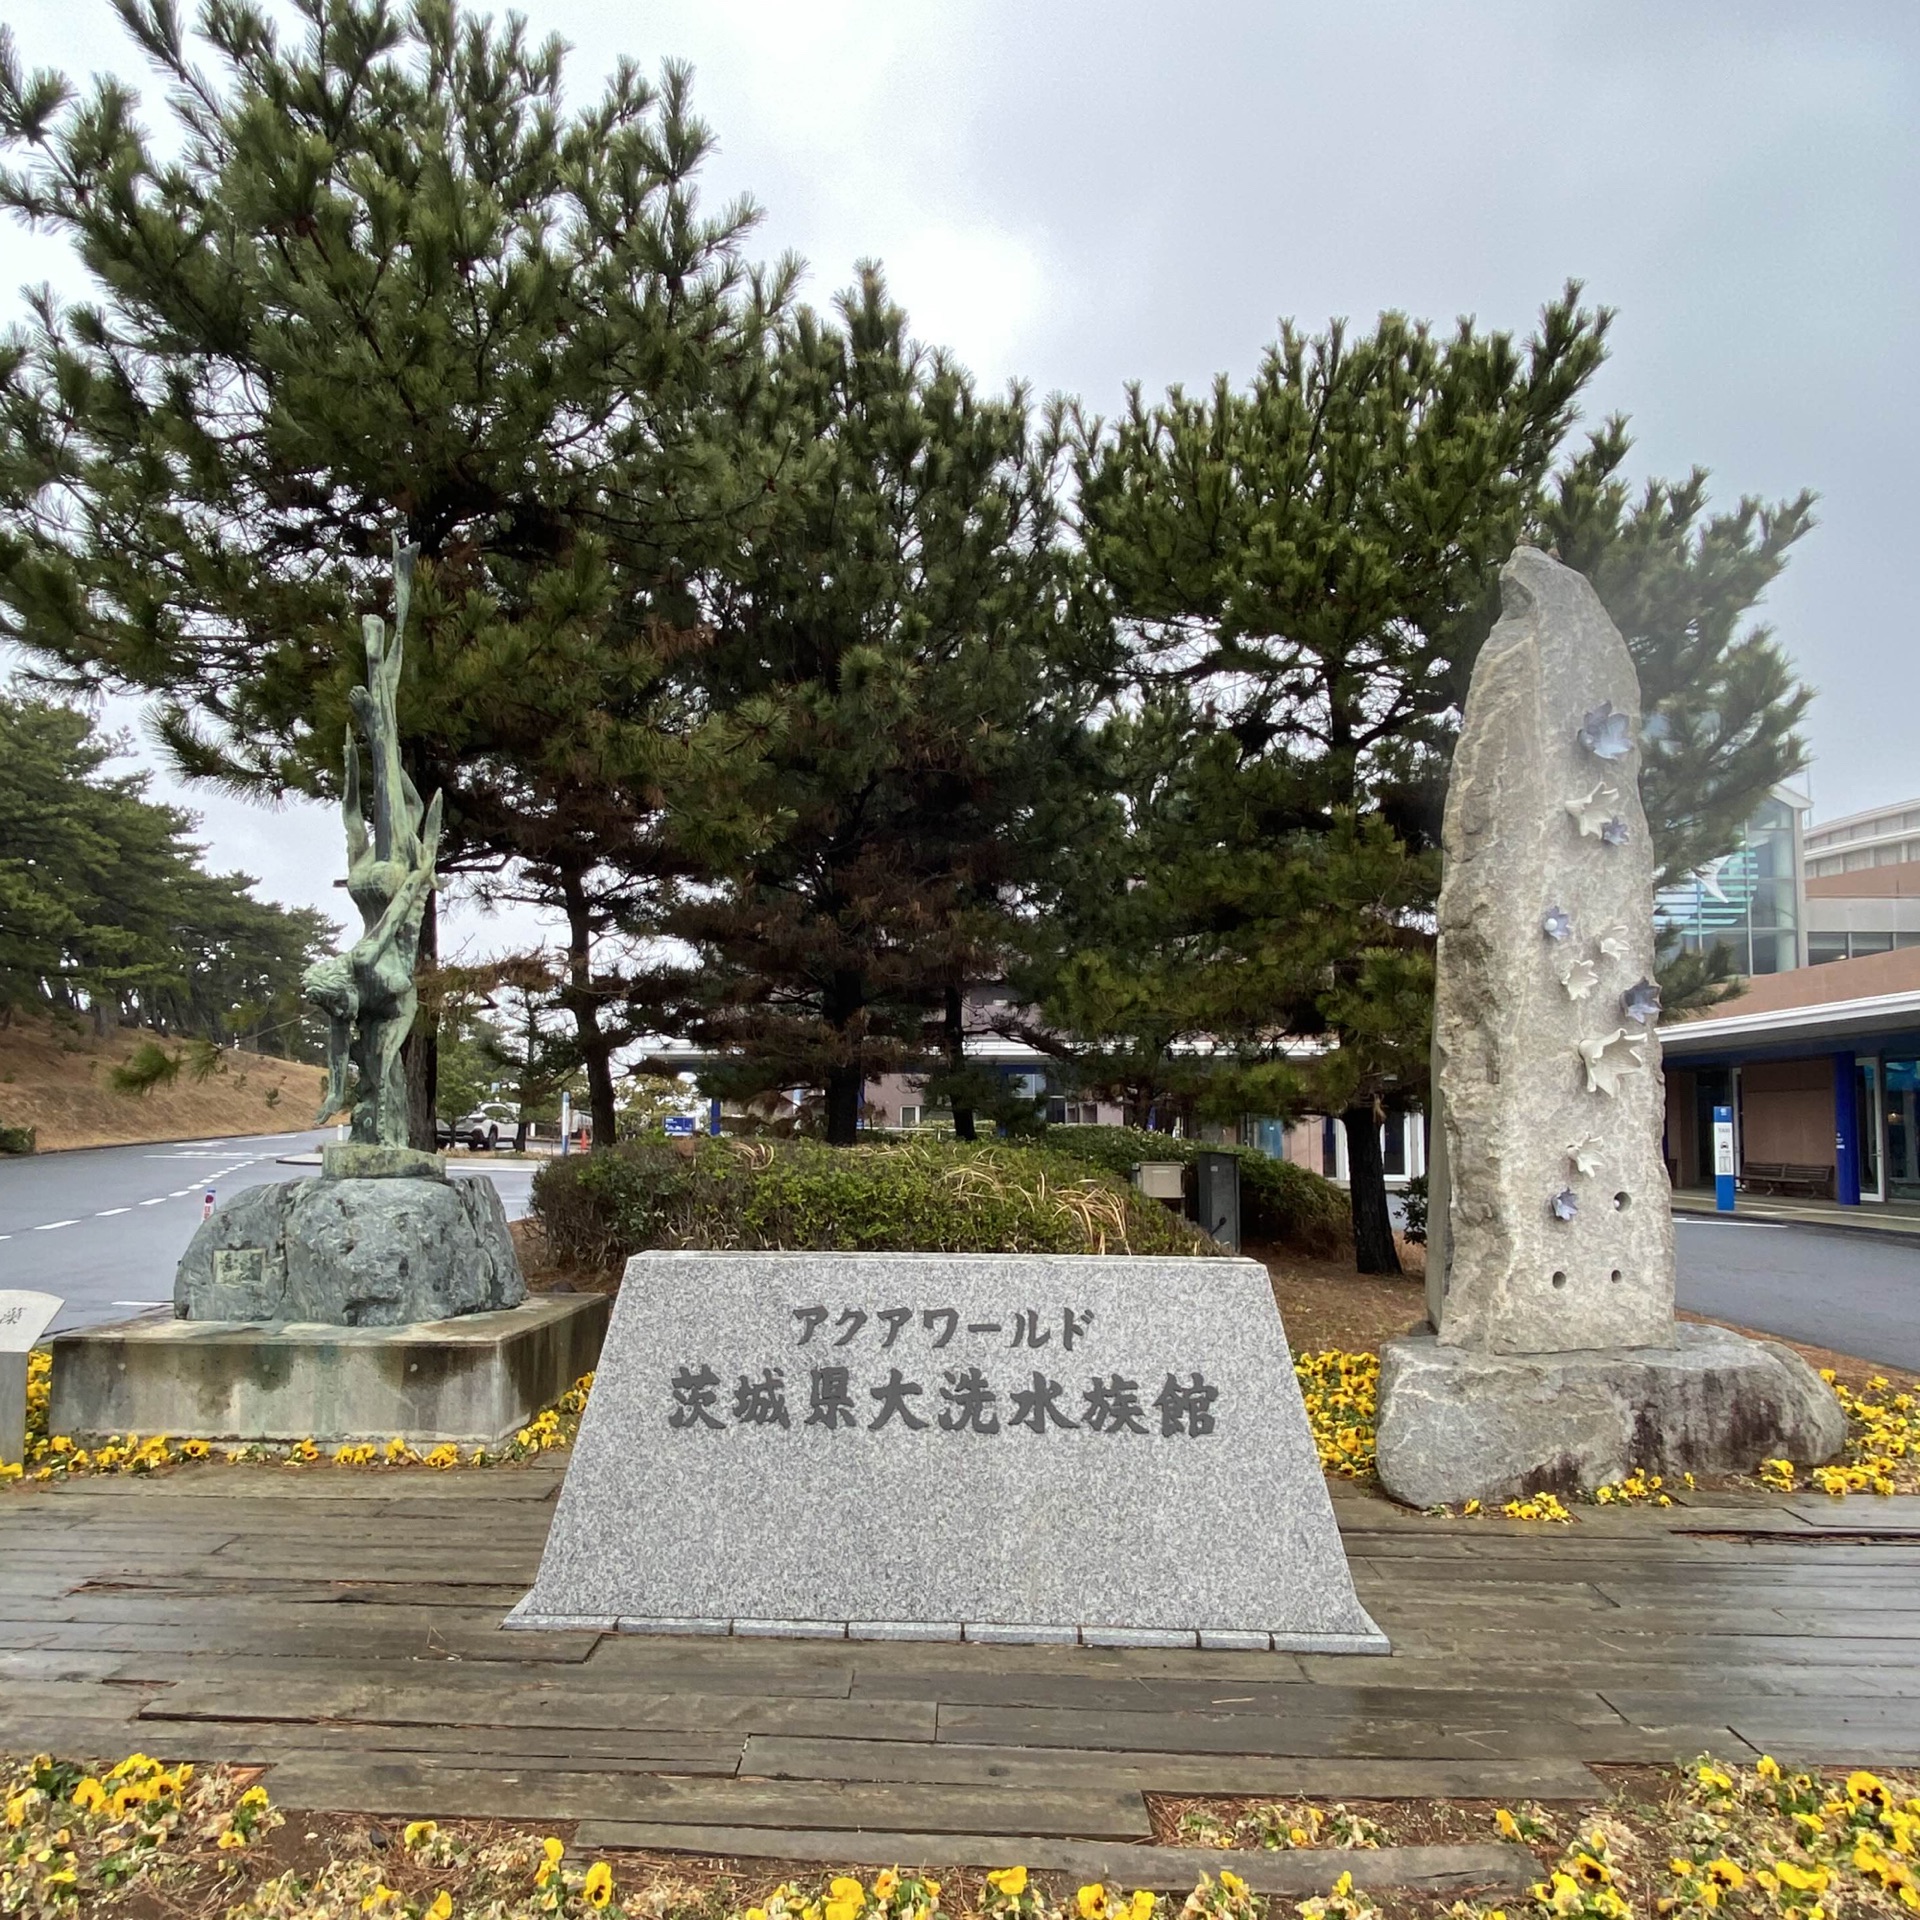
[(593, 1371), (607, 1308), (599, 1294), (538, 1294), (407, 1327), (146, 1313), (56, 1334), (52, 1430), (495, 1446)]

